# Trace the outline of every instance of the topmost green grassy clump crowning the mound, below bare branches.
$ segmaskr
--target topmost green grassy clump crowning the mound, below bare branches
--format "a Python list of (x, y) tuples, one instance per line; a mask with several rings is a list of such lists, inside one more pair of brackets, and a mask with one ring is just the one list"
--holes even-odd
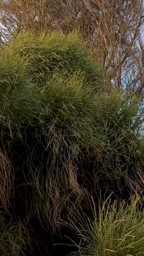
[(73, 74), (80, 69), (85, 73), (87, 83), (93, 83), (97, 90), (104, 90), (103, 71), (91, 60), (76, 34), (35, 36), (29, 32), (20, 33), (11, 41), (9, 51), (27, 60), (31, 79), (39, 86), (43, 86), (55, 70)]

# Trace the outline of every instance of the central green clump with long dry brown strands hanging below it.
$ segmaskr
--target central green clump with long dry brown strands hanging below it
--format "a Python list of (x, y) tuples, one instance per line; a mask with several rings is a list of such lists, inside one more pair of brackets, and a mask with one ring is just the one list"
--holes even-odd
[[(79, 156), (87, 155), (87, 159), (88, 150), (96, 156), (105, 145), (103, 129), (92, 118), (94, 92), (83, 84), (79, 73), (67, 78), (63, 73), (54, 73), (39, 89), (42, 107), (35, 119), (35, 137), (39, 144), (35, 144), (35, 151), (29, 154), (29, 172), (35, 210), (38, 214), (41, 210), (45, 219), (55, 225), (69, 197), (75, 200), (82, 197), (82, 187), (77, 182)], [(39, 159), (38, 166), (34, 158)]]

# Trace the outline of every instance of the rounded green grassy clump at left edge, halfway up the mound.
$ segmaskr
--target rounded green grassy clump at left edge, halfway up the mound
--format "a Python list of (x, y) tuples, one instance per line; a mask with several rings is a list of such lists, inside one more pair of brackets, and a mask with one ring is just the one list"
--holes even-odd
[(0, 59), (1, 136), (21, 136), (21, 127), (31, 123), (36, 107), (35, 92), (29, 81), (27, 63), (4, 49)]

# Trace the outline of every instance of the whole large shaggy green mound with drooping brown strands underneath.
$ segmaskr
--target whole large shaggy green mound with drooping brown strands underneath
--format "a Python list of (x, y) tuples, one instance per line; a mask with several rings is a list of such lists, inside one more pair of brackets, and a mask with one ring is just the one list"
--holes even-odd
[(0, 191), (15, 217), (55, 231), (84, 191), (143, 190), (139, 99), (105, 80), (76, 35), (24, 33), (1, 52)]

